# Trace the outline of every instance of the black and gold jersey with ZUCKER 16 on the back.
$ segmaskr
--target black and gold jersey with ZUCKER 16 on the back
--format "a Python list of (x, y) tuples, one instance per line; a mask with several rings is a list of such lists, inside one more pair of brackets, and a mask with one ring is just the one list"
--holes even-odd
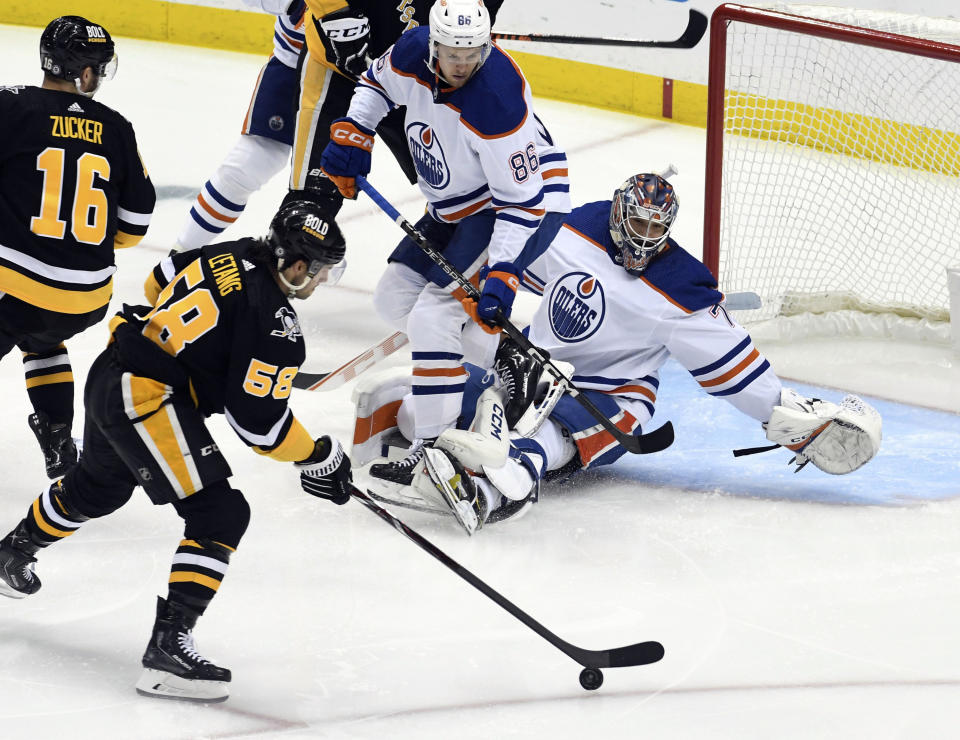
[(114, 247), (140, 241), (155, 200), (116, 111), (79, 93), (0, 87), (0, 291), (60, 313), (105, 306)]

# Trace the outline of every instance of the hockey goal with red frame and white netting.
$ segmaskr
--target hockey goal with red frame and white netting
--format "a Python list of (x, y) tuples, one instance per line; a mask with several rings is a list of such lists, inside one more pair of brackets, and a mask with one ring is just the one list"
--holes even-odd
[(960, 21), (721, 5), (707, 116), (704, 261), (763, 299), (741, 320), (949, 319)]

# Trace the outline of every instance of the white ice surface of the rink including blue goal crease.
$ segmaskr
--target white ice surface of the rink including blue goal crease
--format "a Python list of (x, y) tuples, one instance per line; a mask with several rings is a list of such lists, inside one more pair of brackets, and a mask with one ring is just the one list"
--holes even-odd
[[(38, 36), (0, 28), (0, 84), (39, 83)], [(133, 122), (158, 187), (199, 187), (238, 134), (263, 60), (128, 39), (118, 51), (99, 99)], [(676, 163), (676, 235), (699, 252), (701, 129), (551, 101), (538, 112), (567, 147), (575, 203)], [(384, 147), (374, 159), (371, 181), (415, 218), (420, 196)], [(263, 233), (285, 187), (278, 177), (257, 194), (226, 236)], [(161, 201), (144, 243), (117, 255), (117, 306), (140, 299), (188, 208)], [(298, 306), (311, 370), (388, 333), (370, 294), (401, 234), (363, 199), (342, 216), (344, 281)], [(68, 342), (78, 398), (106, 336), (101, 325)], [(253, 509), (197, 629), (201, 650), (234, 672), (230, 700), (134, 693), (182, 531), (172, 509), (136, 492), (41, 553), (37, 595), (0, 603), (0, 737), (956, 737), (960, 420), (902, 402), (960, 411), (957, 358), (837, 340), (763, 349), (786, 377), (871, 394), (886, 419), (878, 458), (846, 478), (793, 475), (782, 452), (734, 460), (730, 450), (763, 444), (762, 432), (670, 366), (658, 413), (677, 426), (670, 450), (548, 490), (526, 518), (472, 539), (449, 520), (399, 512), (562, 638), (588, 648), (656, 639), (662, 662), (609, 669), (585, 692), (565, 655), (361, 506), (303, 494), (290, 466), (253, 454), (214, 418)], [(0, 382), (2, 534), (45, 479), (16, 353)], [(293, 401), (308, 428), (348, 440), (349, 393)]]

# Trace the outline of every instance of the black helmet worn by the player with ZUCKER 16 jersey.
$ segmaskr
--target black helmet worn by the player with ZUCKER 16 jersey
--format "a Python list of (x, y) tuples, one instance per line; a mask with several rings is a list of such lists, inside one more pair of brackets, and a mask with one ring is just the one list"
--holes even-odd
[(113, 77), (116, 55), (107, 29), (79, 15), (54, 18), (40, 35), (40, 68), (51, 77), (72, 81), (87, 67), (100, 78)]

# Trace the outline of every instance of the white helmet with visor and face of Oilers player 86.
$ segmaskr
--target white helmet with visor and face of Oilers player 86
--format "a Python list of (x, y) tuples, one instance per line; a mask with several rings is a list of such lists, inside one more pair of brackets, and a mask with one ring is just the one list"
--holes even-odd
[[(430, 8), (431, 72), (454, 87), (463, 86), (490, 56), (490, 13), (483, 0), (437, 0)], [(442, 66), (450, 70), (464, 64), (475, 65), (463, 80), (447, 79)]]

